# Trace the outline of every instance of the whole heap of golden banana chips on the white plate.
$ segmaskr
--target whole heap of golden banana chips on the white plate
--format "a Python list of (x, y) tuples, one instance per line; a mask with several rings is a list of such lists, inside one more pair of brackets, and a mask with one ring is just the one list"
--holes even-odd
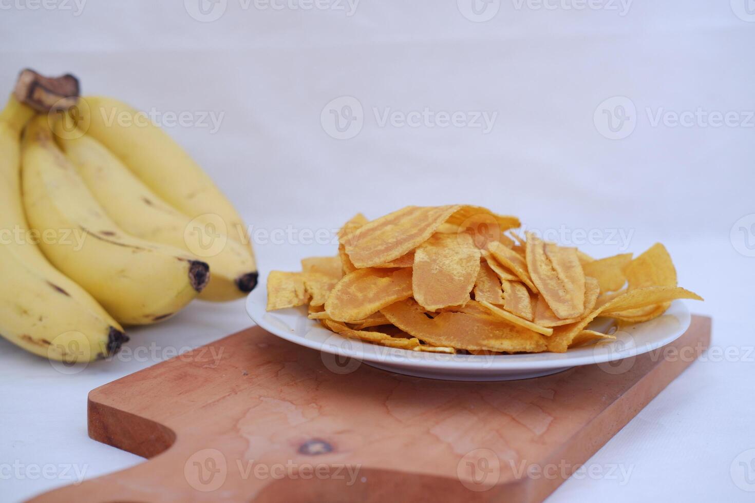
[[(623, 324), (661, 316), (673, 299), (702, 300), (676, 286), (662, 244), (593, 259), (532, 232), (515, 216), (475, 206), (408, 206), (338, 233), (338, 255), (272, 271), (267, 310), (309, 305), (309, 317), (341, 336), (411, 351), (470, 354), (565, 352)], [(596, 317), (615, 320), (606, 333)]]

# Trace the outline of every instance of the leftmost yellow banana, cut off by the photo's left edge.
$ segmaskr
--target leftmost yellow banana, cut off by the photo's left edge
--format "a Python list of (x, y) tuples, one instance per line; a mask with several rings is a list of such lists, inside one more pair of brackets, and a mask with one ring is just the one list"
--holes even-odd
[(128, 336), (33, 243), (20, 192), (21, 129), (33, 115), (14, 97), (0, 113), (0, 333), (53, 360), (94, 360), (116, 353)]

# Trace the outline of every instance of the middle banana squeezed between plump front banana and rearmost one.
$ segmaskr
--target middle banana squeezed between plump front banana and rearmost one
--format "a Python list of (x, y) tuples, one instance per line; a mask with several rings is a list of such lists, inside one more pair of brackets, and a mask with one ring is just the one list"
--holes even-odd
[(205, 225), (192, 222), (149, 190), (105, 146), (73, 127), (70, 118), (57, 121), (55, 140), (116, 225), (137, 238), (168, 244), (205, 260), (212, 276), (200, 299), (238, 299), (254, 288), (257, 267), (244, 245), (224, 235), (211, 235)]

